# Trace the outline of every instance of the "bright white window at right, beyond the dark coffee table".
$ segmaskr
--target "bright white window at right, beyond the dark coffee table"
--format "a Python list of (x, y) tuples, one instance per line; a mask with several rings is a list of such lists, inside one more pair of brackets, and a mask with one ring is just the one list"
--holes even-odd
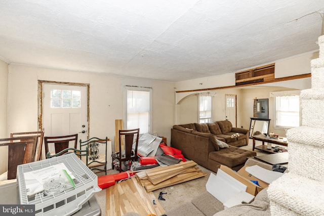
[(300, 91), (272, 92), (274, 97), (274, 127), (287, 129), (300, 126)]

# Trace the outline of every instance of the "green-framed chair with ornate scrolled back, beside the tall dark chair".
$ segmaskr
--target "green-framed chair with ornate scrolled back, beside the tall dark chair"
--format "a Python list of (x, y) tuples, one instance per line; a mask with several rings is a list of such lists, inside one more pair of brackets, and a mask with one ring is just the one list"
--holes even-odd
[[(106, 139), (99, 139), (96, 137), (90, 138), (89, 140), (82, 141), (80, 139), (80, 149), (85, 147), (89, 149), (88, 157), (81, 157), (81, 160), (91, 169), (104, 171), (107, 175), (107, 141)], [(104, 145), (105, 152), (99, 152), (99, 146)], [(100, 168), (103, 166), (103, 168)]]

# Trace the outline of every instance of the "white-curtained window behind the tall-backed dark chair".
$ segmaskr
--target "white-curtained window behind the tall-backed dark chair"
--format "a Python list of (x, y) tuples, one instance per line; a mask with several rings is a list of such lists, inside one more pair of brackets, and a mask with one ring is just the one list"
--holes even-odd
[(150, 133), (151, 92), (150, 88), (126, 88), (127, 129), (140, 128), (140, 134)]

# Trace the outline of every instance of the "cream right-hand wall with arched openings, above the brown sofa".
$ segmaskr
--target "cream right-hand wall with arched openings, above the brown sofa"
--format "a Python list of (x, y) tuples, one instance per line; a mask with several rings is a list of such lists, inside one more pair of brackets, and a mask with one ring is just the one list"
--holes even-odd
[[(318, 58), (318, 52), (280, 60), (275, 63), (275, 77), (287, 77), (292, 75), (306, 74), (311, 72), (310, 61)], [(198, 78), (176, 83), (177, 91), (190, 91), (205, 88), (217, 88), (235, 85), (235, 73), (223, 74), (212, 77)], [(199, 84), (201, 83), (201, 84)], [(253, 99), (269, 98), (269, 92), (283, 90), (303, 90), (311, 88), (311, 78), (303, 78), (289, 81), (274, 82), (254, 85), (249, 88), (231, 88), (216, 90), (213, 98), (213, 121), (225, 119), (225, 94), (237, 95), (237, 126), (250, 128), (250, 117), (253, 117)], [(192, 94), (191, 96), (186, 96)], [(177, 124), (197, 122), (197, 99), (198, 92), (176, 93)], [(273, 101), (269, 98), (269, 118), (273, 119)], [(179, 117), (180, 116), (180, 117)], [(270, 121), (269, 131), (285, 136), (285, 131), (274, 130), (273, 120)]]

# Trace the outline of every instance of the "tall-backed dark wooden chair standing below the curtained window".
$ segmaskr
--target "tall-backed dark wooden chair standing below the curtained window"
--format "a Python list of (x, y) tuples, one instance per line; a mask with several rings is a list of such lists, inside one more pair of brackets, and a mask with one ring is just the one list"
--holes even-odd
[[(137, 147), (138, 147), (138, 138), (140, 135), (140, 128), (137, 129), (127, 129), (127, 130), (119, 130), (119, 172), (126, 171), (122, 168), (123, 162), (130, 162), (130, 161), (137, 161), (138, 155), (137, 155)], [(133, 148), (134, 144), (134, 136), (136, 136), (135, 141), (135, 148)], [(124, 141), (124, 147), (125, 150), (121, 151), (121, 143), (122, 140)]]

